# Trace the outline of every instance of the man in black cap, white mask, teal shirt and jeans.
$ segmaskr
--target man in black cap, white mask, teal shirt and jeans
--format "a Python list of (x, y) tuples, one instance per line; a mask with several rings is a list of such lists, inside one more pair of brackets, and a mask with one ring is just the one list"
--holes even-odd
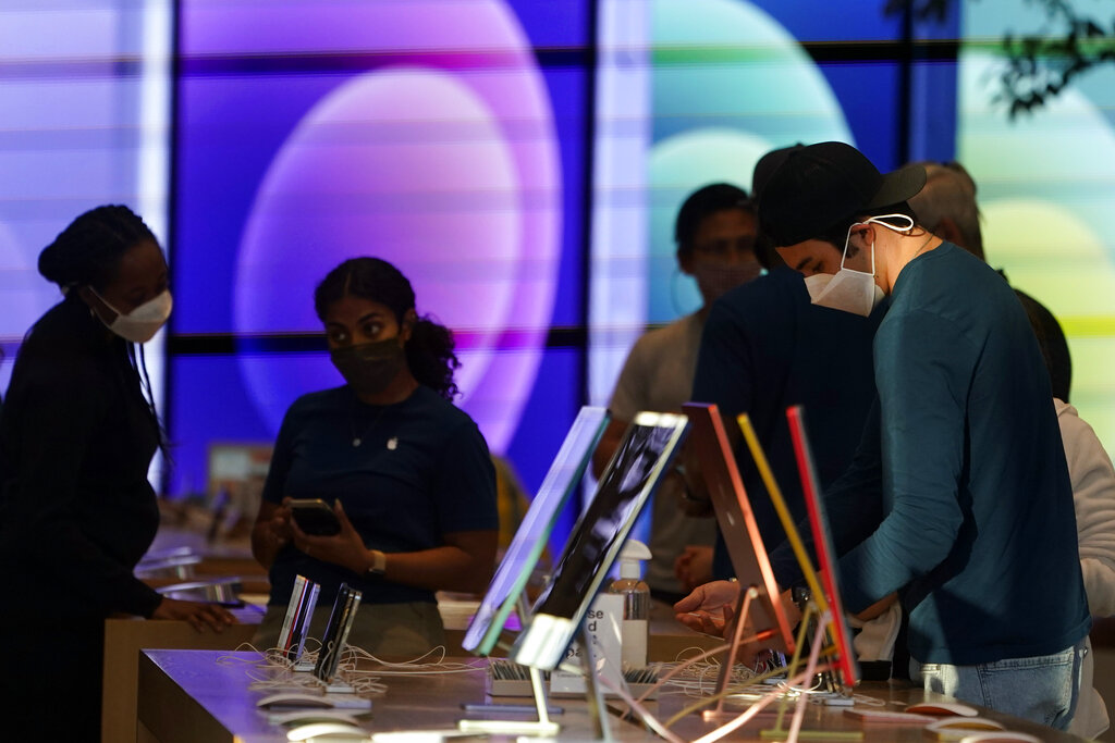
[[(890, 296), (876, 403), (826, 491), (846, 605), (899, 592), (927, 688), (1065, 729), (1090, 619), (1049, 375), (1006, 281), (917, 224), (924, 183), (823, 143), (786, 159), (759, 213), (815, 303), (862, 313)], [(773, 564), (782, 585), (799, 578), (792, 556)]]

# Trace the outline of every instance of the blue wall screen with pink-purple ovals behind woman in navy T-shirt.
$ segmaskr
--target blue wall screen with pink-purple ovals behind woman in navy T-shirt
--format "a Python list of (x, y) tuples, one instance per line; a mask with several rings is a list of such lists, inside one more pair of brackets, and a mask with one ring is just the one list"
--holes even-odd
[[(386, 258), (454, 330), (457, 403), (533, 490), (547, 462), (524, 460), (581, 403), (580, 365), (545, 344), (583, 322), (589, 12), (307, 1), (261, 25), (258, 3), (184, 2), (176, 338), (319, 333), (326, 273)], [(326, 354), (234, 343), (172, 362), (174, 491), (193, 489), (205, 440), (270, 440), (297, 397), (342, 382)], [(204, 388), (221, 394), (181, 402)]]

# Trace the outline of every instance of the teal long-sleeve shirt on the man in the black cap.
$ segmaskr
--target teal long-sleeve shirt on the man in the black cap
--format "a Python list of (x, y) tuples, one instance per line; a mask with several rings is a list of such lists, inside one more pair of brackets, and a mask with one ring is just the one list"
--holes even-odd
[(874, 364), (875, 409), (825, 495), (850, 610), (898, 590), (923, 663), (1080, 639), (1072, 485), (1041, 353), (1006, 281), (949, 243), (918, 256)]

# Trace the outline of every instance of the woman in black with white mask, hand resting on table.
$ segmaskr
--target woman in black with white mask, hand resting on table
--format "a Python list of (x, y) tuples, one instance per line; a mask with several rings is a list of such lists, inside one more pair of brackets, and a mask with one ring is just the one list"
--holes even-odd
[(158, 528), (147, 469), (163, 437), (142, 345), (171, 314), (158, 243), (126, 206), (101, 206), (42, 251), (39, 273), (65, 299), (25, 338), (0, 418), (0, 694), (6, 724), (36, 740), (97, 741), (105, 617), (233, 618), (132, 574)]

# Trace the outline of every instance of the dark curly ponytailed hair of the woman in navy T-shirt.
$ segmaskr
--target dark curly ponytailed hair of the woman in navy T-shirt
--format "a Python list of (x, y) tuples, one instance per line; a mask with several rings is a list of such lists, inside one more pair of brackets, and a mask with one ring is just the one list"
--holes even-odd
[[(380, 258), (349, 258), (330, 271), (313, 292), (318, 319), (326, 322), (329, 307), (346, 296), (386, 305), (400, 327), (407, 311), (415, 309), (410, 282), (398, 268)], [(453, 400), (460, 392), (453, 381), (453, 372), (460, 368), (454, 346), (453, 332), (428, 316), (417, 319), (406, 345), (410, 373), (446, 400)]]

